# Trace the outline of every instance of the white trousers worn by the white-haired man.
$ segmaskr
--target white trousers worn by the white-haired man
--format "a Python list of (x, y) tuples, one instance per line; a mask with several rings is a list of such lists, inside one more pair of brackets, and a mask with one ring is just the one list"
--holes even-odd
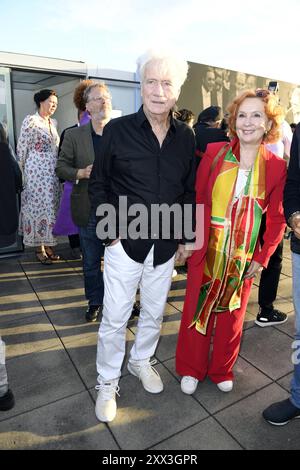
[(103, 316), (97, 348), (98, 381), (107, 382), (121, 375), (126, 326), (138, 287), (141, 312), (130, 360), (147, 360), (155, 352), (175, 255), (166, 263), (153, 267), (153, 253), (154, 245), (144, 263), (137, 263), (126, 254), (121, 242), (105, 249)]

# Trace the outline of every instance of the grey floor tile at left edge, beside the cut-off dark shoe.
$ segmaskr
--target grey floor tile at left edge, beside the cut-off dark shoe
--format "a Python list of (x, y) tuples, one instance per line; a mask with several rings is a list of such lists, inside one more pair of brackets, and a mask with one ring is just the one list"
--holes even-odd
[(85, 390), (63, 348), (11, 359), (7, 369), (16, 405), (0, 421)]

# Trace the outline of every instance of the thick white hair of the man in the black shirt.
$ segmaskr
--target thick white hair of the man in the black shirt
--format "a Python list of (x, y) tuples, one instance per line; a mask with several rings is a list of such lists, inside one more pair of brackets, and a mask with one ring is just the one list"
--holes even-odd
[(147, 50), (137, 59), (137, 73), (141, 83), (145, 79), (145, 69), (150, 62), (158, 63), (161, 72), (168, 74), (174, 86), (180, 90), (188, 74), (189, 66), (186, 60), (177, 57), (173, 53), (160, 52), (154, 49)]

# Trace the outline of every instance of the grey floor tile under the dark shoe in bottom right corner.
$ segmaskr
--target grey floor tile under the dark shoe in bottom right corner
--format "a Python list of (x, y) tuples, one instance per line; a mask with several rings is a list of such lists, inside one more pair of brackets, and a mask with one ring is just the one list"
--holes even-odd
[(299, 420), (278, 427), (268, 424), (262, 417), (266, 407), (287, 397), (285, 390), (272, 384), (217, 413), (215, 418), (245, 449), (299, 450)]

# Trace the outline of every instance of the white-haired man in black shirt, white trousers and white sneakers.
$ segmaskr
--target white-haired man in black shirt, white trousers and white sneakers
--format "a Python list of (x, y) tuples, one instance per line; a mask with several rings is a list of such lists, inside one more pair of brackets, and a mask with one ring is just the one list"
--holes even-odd
[[(117, 209), (120, 196), (127, 196), (129, 209), (139, 203), (148, 211), (154, 205), (170, 207), (179, 203), (183, 207), (195, 202), (194, 133), (172, 115), (188, 65), (149, 52), (139, 59), (138, 66), (143, 105), (137, 113), (115, 119), (105, 128), (89, 184), (94, 210), (101, 209), (103, 203)], [(151, 235), (149, 229), (147, 237), (138, 239), (128, 232), (127, 237), (116, 232), (114, 241), (107, 240), (104, 256), (105, 294), (96, 387), (96, 416), (104, 422), (116, 415), (126, 325), (138, 285), (141, 313), (127, 367), (145, 390), (163, 391), (162, 380), (150, 359), (160, 335), (175, 254), (184, 262), (191, 253), (185, 246), (187, 240), (180, 240), (178, 245), (172, 223), (169, 239), (161, 230)]]

